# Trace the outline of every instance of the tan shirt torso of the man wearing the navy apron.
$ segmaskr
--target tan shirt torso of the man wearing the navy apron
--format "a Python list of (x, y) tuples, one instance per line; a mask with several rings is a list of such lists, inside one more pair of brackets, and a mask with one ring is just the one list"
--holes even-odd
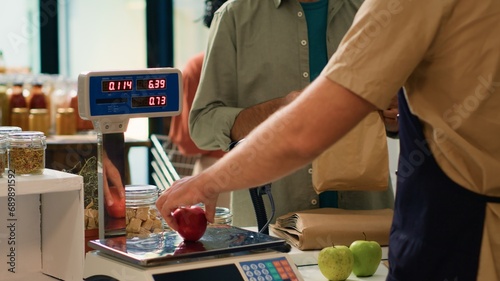
[(444, 8), (436, 39), (408, 79), (409, 103), (447, 175), (500, 196), (500, 1)]

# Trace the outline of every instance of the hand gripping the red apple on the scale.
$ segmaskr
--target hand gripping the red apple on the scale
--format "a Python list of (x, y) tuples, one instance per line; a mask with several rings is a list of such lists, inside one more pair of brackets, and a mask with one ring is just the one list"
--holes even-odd
[(165, 222), (175, 231), (179, 231), (179, 225), (174, 217), (178, 208), (189, 207), (198, 203), (205, 205), (205, 218), (213, 222), (215, 207), (219, 194), (210, 186), (203, 184), (203, 176), (184, 177), (164, 191), (156, 201), (156, 207), (165, 219)]

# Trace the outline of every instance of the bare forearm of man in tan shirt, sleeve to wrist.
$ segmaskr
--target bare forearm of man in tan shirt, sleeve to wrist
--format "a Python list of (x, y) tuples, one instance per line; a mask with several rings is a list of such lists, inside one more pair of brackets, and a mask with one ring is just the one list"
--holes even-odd
[[(306, 93), (307, 92), (307, 93)], [(319, 77), (300, 102), (272, 115), (223, 161), (206, 170), (217, 192), (258, 186), (310, 163), (376, 108)], [(206, 180), (206, 179), (205, 179)]]

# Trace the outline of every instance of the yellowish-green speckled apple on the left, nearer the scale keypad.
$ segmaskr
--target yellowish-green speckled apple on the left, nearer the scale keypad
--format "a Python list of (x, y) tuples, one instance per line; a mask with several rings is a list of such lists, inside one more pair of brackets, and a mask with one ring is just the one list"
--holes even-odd
[(319, 252), (318, 267), (328, 280), (346, 280), (351, 275), (353, 265), (354, 257), (347, 246), (330, 246)]

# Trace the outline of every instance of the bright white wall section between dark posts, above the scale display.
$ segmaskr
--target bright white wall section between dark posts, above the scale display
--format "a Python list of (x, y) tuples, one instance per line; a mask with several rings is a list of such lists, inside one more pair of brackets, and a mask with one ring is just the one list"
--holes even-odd
[(146, 67), (143, 0), (66, 3), (70, 77), (87, 70)]

